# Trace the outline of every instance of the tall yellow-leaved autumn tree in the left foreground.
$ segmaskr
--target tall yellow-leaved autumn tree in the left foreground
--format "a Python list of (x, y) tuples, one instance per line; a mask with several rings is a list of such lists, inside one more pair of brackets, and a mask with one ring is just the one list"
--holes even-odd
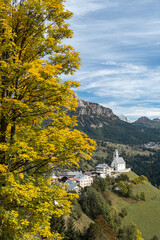
[(52, 214), (70, 212), (65, 187), (50, 175), (90, 159), (95, 143), (73, 129), (80, 59), (63, 39), (72, 13), (64, 0), (0, 0), (0, 239), (61, 239)]

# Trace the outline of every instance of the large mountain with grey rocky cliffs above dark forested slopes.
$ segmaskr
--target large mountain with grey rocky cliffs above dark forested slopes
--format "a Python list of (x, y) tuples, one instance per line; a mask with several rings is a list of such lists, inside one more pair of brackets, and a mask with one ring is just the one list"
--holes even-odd
[(160, 129), (124, 122), (111, 109), (78, 98), (76, 112), (78, 129), (91, 138), (124, 144), (142, 144), (160, 141)]

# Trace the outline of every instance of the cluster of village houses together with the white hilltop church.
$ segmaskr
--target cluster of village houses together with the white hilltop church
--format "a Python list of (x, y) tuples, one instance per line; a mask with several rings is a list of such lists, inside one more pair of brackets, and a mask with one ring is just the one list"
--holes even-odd
[(84, 172), (82, 171), (64, 171), (59, 177), (53, 174), (53, 181), (59, 181), (67, 184), (67, 191), (75, 191), (79, 193), (81, 189), (91, 186), (93, 180), (97, 177), (106, 178), (106, 176), (116, 178), (121, 173), (129, 172), (131, 168), (126, 168), (126, 162), (122, 157), (119, 157), (118, 150), (113, 153), (113, 161), (111, 166), (106, 163), (98, 164), (95, 171)]

